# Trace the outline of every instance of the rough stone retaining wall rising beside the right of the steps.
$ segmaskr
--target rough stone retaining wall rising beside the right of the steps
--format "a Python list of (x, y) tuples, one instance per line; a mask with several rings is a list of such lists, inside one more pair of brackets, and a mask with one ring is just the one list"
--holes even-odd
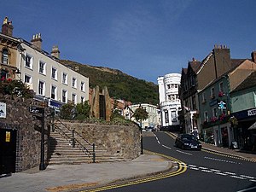
[(137, 125), (98, 125), (63, 121), (88, 142), (105, 148), (111, 154), (135, 159), (141, 154), (141, 132)]

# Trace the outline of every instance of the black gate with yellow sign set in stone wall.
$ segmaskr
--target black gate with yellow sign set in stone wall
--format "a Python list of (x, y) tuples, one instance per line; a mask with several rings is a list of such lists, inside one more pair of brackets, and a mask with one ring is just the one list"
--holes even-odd
[(17, 130), (0, 127), (0, 174), (15, 172)]

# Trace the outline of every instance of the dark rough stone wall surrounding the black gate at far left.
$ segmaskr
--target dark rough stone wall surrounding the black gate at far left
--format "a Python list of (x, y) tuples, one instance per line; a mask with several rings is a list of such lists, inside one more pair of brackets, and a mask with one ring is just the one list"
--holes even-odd
[[(6, 103), (6, 118), (0, 119), (0, 129), (11, 127), (17, 130), (15, 172), (38, 166), (41, 155), (41, 121), (35, 119), (32, 116), (34, 113), (28, 110), (29, 106), (35, 103), (32, 99), (11, 99), (10, 96), (0, 96), (0, 102)], [(45, 160), (47, 160), (47, 136), (45, 142)]]

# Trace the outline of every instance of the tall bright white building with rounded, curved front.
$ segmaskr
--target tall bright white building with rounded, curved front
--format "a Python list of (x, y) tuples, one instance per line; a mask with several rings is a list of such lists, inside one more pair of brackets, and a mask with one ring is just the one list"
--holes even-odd
[(178, 96), (181, 74), (169, 73), (157, 79), (160, 96), (161, 125), (168, 129), (178, 129), (178, 111), (181, 102)]

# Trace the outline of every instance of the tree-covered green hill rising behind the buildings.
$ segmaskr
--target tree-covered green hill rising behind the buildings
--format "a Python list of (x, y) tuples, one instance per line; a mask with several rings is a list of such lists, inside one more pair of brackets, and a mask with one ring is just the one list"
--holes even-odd
[(61, 60), (61, 63), (88, 77), (90, 88), (99, 85), (102, 89), (107, 86), (109, 95), (115, 99), (124, 99), (132, 103), (158, 104), (158, 86), (152, 82), (131, 77), (108, 67), (93, 67), (68, 60)]

